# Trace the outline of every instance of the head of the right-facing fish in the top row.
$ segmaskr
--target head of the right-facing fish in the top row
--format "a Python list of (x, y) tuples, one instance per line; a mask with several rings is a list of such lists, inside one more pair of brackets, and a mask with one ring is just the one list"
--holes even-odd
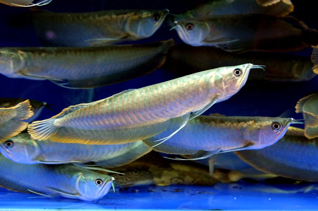
[(169, 10), (141, 10), (130, 16), (125, 23), (125, 31), (136, 39), (153, 35), (162, 25)]

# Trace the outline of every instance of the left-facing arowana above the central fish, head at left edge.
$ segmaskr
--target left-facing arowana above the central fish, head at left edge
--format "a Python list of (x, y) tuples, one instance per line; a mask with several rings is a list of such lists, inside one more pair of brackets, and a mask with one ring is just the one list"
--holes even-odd
[(51, 80), (66, 88), (98, 87), (156, 70), (172, 45), (173, 39), (144, 45), (0, 48), (0, 73), (10, 78)]

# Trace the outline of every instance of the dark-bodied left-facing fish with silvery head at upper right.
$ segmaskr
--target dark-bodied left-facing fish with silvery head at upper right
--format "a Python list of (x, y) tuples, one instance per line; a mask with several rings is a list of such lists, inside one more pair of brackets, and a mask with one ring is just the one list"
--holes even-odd
[(183, 42), (225, 51), (296, 51), (317, 45), (318, 31), (288, 16), (261, 14), (207, 16), (175, 22)]

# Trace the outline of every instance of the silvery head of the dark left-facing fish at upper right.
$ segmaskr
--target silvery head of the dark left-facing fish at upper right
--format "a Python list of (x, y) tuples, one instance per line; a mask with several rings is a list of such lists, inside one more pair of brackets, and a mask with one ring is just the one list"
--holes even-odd
[(174, 22), (179, 37), (183, 42), (192, 46), (201, 46), (210, 35), (210, 26), (207, 22), (196, 20), (179, 20)]

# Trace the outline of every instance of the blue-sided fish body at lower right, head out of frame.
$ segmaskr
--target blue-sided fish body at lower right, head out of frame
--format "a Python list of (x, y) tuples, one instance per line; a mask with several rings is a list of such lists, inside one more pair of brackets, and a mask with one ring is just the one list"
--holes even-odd
[(307, 139), (302, 129), (290, 127), (279, 142), (264, 149), (235, 153), (259, 170), (297, 180), (318, 181), (318, 139)]

